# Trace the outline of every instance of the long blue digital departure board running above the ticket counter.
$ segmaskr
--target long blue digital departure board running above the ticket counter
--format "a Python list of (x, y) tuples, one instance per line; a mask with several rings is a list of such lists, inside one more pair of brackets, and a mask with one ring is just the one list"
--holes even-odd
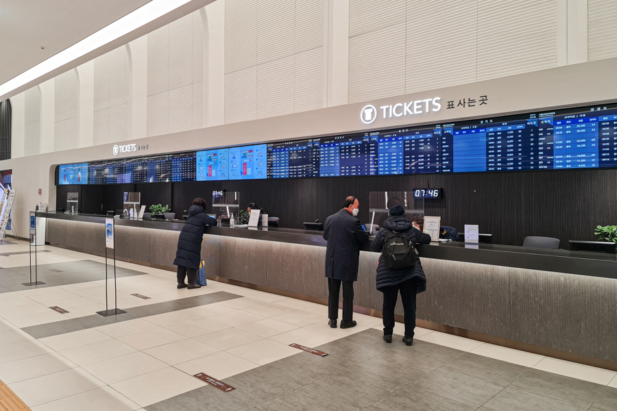
[(66, 164), (58, 184), (617, 167), (617, 104)]

